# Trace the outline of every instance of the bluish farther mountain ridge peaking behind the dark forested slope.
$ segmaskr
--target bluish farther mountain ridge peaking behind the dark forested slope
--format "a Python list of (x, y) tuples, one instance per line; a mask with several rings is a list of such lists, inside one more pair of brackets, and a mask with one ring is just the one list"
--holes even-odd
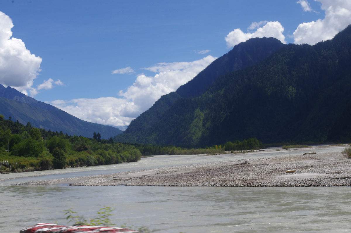
[[(213, 61), (191, 81), (179, 87), (176, 92), (162, 96), (155, 104), (134, 119), (126, 132), (117, 141), (123, 142), (150, 142), (143, 135), (152, 131), (153, 125), (158, 122), (163, 114), (175, 103), (183, 98), (191, 98), (203, 94), (208, 87), (221, 75), (228, 72), (252, 66), (284, 46), (275, 38), (253, 38), (242, 42), (227, 54)], [(153, 141), (153, 140), (152, 140)]]

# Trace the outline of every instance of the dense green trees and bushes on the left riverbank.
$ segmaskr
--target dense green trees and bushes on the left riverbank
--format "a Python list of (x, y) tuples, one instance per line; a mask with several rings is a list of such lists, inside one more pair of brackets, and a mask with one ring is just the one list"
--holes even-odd
[(0, 115), (0, 172), (117, 164), (140, 158), (133, 145), (46, 131)]

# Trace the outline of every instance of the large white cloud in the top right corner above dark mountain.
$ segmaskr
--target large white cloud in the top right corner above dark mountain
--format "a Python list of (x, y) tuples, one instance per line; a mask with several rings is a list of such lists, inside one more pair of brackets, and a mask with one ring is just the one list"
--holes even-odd
[(351, 24), (350, 0), (315, 0), (325, 11), (324, 19), (300, 24), (295, 32), (295, 44), (314, 45), (319, 41), (333, 38), (338, 32)]

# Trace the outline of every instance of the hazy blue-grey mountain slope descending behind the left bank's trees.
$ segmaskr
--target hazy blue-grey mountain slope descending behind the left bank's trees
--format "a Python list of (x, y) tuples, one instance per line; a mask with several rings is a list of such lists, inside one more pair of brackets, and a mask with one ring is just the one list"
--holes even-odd
[(69, 135), (92, 137), (99, 132), (102, 138), (110, 138), (122, 131), (112, 126), (80, 120), (52, 105), (35, 100), (14, 88), (0, 84), (0, 114), (21, 124), (31, 122), (32, 126), (51, 131), (62, 131)]

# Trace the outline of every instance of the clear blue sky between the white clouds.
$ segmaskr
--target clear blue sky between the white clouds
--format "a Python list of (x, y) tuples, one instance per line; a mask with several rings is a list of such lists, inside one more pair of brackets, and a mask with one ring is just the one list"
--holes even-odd
[[(326, 1), (309, 0), (312, 10), (304, 11), (296, 0), (3, 0), (0, 11), (12, 19), (13, 38), (21, 39), (32, 54), (42, 58), (41, 71), (32, 87), (49, 78), (64, 83), (40, 89), (34, 98), (63, 103), (78, 98), (126, 98), (120, 90), (126, 92), (139, 74), (154, 77), (163, 71), (143, 68), (159, 62), (219, 57), (231, 49), (225, 37), (236, 28), (246, 33), (252, 22), (278, 21), (284, 27), (285, 41), (292, 43), (292, 33), (299, 24), (326, 17), (321, 9), (322, 4), (328, 4)], [(210, 52), (197, 53), (204, 50)], [(131, 67), (134, 73), (111, 73), (125, 67)]]

